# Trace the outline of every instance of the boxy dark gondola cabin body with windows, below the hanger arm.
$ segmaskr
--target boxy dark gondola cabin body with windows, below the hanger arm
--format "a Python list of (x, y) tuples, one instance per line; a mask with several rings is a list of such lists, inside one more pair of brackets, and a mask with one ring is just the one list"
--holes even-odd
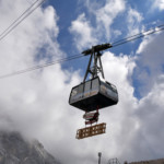
[(69, 104), (84, 112), (93, 112), (118, 103), (115, 85), (96, 77), (72, 89)]

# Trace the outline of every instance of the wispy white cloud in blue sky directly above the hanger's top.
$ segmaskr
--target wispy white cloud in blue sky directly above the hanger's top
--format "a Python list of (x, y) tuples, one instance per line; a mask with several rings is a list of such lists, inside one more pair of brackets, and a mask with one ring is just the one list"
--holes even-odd
[[(125, 10), (124, 0), (106, 0), (105, 4), (98, 5), (97, 2), (84, 1), (87, 11), (95, 19), (95, 25), (92, 20), (87, 19), (84, 13), (80, 14), (75, 21), (72, 21), (70, 32), (73, 34), (74, 43), (78, 49), (91, 47), (103, 38), (105, 40), (110, 37), (110, 25), (114, 20)], [(114, 31), (116, 35), (120, 35), (119, 31)]]

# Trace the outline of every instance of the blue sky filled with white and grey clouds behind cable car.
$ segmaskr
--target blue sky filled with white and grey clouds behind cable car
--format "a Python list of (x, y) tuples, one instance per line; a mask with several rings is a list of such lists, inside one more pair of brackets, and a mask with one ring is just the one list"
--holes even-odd
[[(0, 0), (0, 34), (34, 0)], [(47, 0), (0, 39), (0, 75), (80, 54), (164, 24), (164, 0)], [(0, 38), (2, 35), (0, 35)], [(77, 140), (83, 112), (68, 104), (89, 58), (0, 79), (0, 129), (38, 139), (63, 164), (161, 159), (164, 150), (164, 33), (104, 52), (105, 78), (119, 93), (101, 110), (105, 134)]]

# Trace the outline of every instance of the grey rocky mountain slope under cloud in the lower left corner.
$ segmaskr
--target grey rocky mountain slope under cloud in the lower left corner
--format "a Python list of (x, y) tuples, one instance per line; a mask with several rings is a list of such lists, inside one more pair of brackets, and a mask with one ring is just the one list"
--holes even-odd
[(0, 164), (59, 164), (37, 140), (27, 141), (19, 132), (0, 131)]

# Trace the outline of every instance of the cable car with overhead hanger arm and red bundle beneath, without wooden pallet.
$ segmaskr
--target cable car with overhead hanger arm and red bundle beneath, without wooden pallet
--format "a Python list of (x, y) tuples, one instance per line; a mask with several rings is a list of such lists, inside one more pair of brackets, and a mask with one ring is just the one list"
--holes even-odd
[[(104, 80), (102, 54), (99, 52), (110, 47), (110, 44), (97, 45), (82, 52), (84, 56), (91, 55), (90, 61), (83, 82), (71, 90), (69, 104), (85, 112), (83, 116), (87, 120), (85, 125), (92, 125), (98, 120), (98, 109), (118, 103), (116, 86)], [(98, 73), (103, 79), (98, 77)], [(87, 78), (89, 74), (90, 78)], [(94, 110), (96, 113), (91, 113)]]

